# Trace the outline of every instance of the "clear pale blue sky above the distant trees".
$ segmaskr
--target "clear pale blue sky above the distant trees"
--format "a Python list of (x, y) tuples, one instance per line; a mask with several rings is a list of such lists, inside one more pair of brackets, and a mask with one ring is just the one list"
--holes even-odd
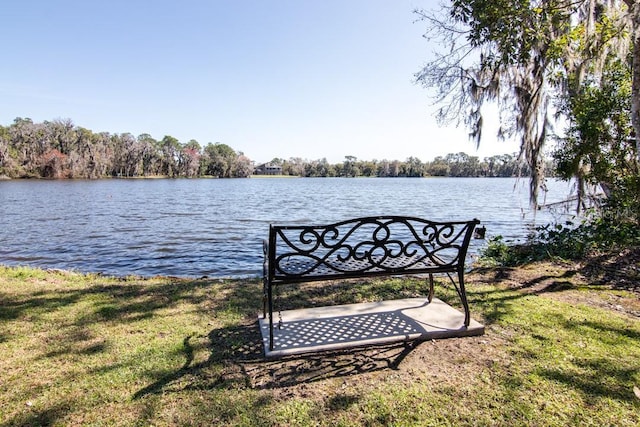
[[(439, 0), (438, 0), (439, 1)], [(256, 162), (512, 153), (439, 127), (414, 73), (437, 0), (20, 0), (0, 6), (0, 124), (201, 145)]]

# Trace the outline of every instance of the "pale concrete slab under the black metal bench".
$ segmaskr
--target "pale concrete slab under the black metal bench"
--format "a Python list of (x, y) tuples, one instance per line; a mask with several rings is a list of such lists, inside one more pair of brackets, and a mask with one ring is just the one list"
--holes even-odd
[(274, 349), (269, 350), (269, 319), (259, 317), (267, 358), (340, 350), (407, 340), (484, 334), (484, 326), (434, 298), (406, 298), (361, 304), (315, 307), (274, 313)]

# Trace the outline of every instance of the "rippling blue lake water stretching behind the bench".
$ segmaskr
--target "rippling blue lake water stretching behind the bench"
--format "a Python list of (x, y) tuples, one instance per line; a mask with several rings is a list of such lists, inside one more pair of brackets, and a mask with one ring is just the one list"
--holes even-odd
[[(487, 237), (523, 240), (559, 220), (511, 178), (251, 178), (0, 181), (0, 264), (107, 275), (261, 274), (270, 223), (374, 215), (478, 218)], [(570, 184), (548, 182), (546, 202)], [(471, 253), (486, 241), (474, 240)]]

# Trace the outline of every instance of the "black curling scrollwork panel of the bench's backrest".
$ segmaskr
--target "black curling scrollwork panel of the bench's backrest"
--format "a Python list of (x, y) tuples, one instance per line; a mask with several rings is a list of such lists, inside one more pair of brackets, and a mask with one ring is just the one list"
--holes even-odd
[(343, 275), (448, 268), (467, 223), (360, 218), (330, 226), (276, 227), (275, 275)]

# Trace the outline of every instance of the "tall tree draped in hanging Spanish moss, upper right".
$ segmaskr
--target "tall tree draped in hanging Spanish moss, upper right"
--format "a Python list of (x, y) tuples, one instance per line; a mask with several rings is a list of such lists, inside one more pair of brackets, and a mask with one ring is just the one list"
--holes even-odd
[[(498, 136), (519, 137), (531, 173), (531, 199), (544, 178), (544, 147), (553, 134), (556, 102), (574, 96), (607, 58), (633, 57), (631, 92), (640, 155), (640, 6), (635, 0), (453, 0), (439, 15), (416, 11), (425, 37), (444, 46), (419, 73), (435, 89), (438, 118), (459, 120), (479, 144), (482, 107), (497, 103)], [(633, 45), (632, 48), (630, 48)], [(563, 119), (570, 120), (565, 114)]]

